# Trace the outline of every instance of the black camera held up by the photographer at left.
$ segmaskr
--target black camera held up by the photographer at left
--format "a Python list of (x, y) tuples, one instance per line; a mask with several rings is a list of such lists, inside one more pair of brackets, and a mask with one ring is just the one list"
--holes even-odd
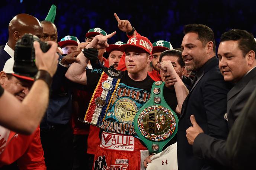
[(14, 66), (13, 71), (19, 75), (33, 77), (38, 69), (35, 64), (35, 49), (33, 42), (38, 41), (42, 52), (47, 52), (50, 45), (42, 42), (37, 36), (32, 34), (24, 34), (21, 39), (16, 42), (14, 50)]

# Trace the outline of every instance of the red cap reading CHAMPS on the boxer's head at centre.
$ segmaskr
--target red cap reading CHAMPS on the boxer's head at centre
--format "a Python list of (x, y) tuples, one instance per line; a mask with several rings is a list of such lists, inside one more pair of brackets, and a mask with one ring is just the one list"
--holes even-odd
[(127, 41), (127, 44), (121, 45), (119, 49), (122, 52), (125, 52), (125, 50), (129, 47), (137, 47), (137, 48), (143, 49), (145, 52), (152, 55), (152, 49), (153, 49), (152, 43), (150, 42), (150, 40), (147, 39), (147, 37), (139, 36), (139, 35), (132, 36)]

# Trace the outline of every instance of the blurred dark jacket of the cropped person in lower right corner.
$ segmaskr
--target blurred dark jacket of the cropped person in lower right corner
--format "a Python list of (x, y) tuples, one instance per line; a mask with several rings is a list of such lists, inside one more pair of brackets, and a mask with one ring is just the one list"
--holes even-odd
[(234, 122), (227, 138), (227, 156), (234, 170), (255, 169), (256, 89)]

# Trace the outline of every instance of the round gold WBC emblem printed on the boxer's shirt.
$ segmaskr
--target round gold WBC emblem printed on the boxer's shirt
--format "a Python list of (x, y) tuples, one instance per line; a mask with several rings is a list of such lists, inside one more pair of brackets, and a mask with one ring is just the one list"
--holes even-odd
[(132, 123), (137, 111), (137, 105), (129, 98), (121, 98), (116, 101), (115, 116), (120, 122)]

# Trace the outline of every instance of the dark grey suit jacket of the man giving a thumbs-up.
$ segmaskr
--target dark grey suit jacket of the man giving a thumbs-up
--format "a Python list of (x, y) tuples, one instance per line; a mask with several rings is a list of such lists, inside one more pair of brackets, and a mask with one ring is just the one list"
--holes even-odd
[[(242, 109), (256, 88), (256, 68), (245, 75), (227, 94), (227, 117), (229, 128), (236, 118), (242, 114)], [(193, 144), (194, 154), (201, 158), (214, 160), (227, 167), (231, 162), (227, 159), (226, 141), (206, 134), (199, 134)]]

